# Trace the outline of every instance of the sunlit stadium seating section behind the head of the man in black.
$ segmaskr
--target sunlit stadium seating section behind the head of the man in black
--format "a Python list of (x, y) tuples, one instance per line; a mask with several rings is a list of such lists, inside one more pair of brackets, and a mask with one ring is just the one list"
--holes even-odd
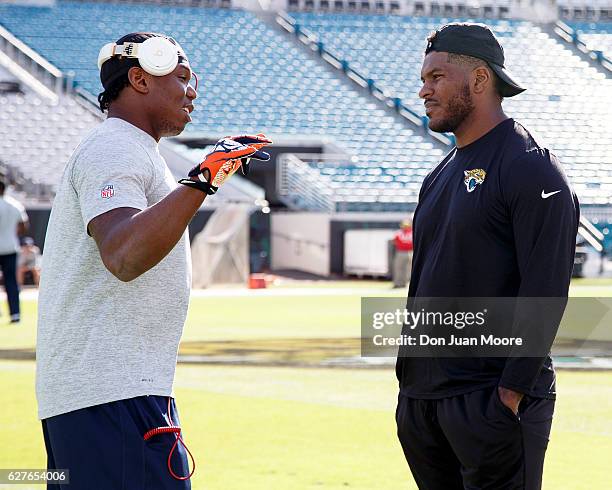
[[(318, 36), (326, 49), (420, 114), (424, 109), (417, 94), (425, 39), (441, 25), (460, 20), (321, 13), (291, 17)], [(507, 66), (528, 87), (519, 97), (504, 101), (506, 112), (555, 151), (583, 203), (612, 203), (612, 185), (601, 178), (612, 178), (612, 79), (530, 22), (465, 20), (491, 26), (501, 38)], [(593, 45), (600, 46), (594, 49), (610, 51), (612, 23), (572, 25), (581, 39), (593, 35)]]

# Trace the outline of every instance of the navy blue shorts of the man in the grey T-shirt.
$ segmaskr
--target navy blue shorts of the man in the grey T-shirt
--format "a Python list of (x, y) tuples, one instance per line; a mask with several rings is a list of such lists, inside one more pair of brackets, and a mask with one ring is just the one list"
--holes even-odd
[[(174, 400), (172, 420), (180, 426)], [(187, 490), (168, 470), (172, 433), (145, 441), (146, 432), (169, 425), (168, 398), (140, 396), (75, 410), (42, 421), (48, 469), (70, 470), (69, 485), (47, 490)], [(189, 474), (187, 452), (179, 442), (171, 467)]]

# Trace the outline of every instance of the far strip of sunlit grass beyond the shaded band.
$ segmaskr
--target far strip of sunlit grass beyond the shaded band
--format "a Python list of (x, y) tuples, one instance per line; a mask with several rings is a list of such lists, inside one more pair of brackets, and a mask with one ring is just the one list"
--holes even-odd
[[(365, 286), (356, 288), (353, 295), (335, 295), (333, 289), (346, 288), (347, 283), (323, 284), (325, 287), (316, 295), (193, 297), (183, 341), (359, 337), (360, 294), (364, 294), (360, 289)], [(390, 290), (385, 282), (366, 284), (365, 294), (399, 297), (406, 294), (405, 290)], [(348, 285), (352, 287), (353, 283)], [(612, 296), (612, 280), (575, 279), (570, 295)], [(22, 310), (20, 325), (9, 325), (6, 314), (0, 317), (0, 349), (35, 346), (36, 301), (22, 301)]]

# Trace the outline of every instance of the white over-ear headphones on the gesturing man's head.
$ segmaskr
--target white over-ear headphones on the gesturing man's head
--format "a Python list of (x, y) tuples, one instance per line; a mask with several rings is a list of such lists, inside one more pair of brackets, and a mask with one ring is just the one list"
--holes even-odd
[(102, 69), (105, 61), (113, 56), (137, 58), (140, 66), (147, 73), (162, 77), (172, 73), (178, 65), (179, 56), (186, 58), (183, 48), (175, 41), (172, 43), (166, 37), (150, 37), (143, 43), (124, 43), (117, 45), (108, 43), (98, 54), (98, 69)]

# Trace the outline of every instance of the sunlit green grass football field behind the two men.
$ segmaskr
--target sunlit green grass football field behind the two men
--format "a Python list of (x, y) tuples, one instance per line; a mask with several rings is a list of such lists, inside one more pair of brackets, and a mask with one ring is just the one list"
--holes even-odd
[[(181, 352), (206, 354), (206, 345), (239, 342), (263, 346), (269, 361), (292, 345), (308, 349), (309, 339), (358, 336), (360, 295), (403, 294), (389, 293), (385, 283), (350, 287), (352, 294), (313, 286), (295, 294), (279, 288), (278, 295), (230, 290), (194, 297)], [(610, 296), (612, 283), (576, 282), (572, 294)], [(21, 325), (0, 318), (0, 468), (45, 464), (28, 360), (36, 303), (23, 306)], [(175, 387), (196, 456), (194, 489), (416, 488), (395, 438), (391, 368), (180, 364)], [(558, 391), (544, 488), (611, 488), (612, 372), (560, 370)]]

